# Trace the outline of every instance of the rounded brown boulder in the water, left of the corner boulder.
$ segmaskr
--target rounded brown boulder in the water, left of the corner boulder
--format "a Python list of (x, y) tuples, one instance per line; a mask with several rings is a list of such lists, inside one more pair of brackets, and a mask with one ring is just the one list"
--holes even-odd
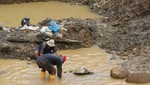
[(129, 72), (126, 68), (113, 68), (110, 71), (110, 75), (111, 77), (115, 78), (115, 79), (124, 79), (128, 76)]

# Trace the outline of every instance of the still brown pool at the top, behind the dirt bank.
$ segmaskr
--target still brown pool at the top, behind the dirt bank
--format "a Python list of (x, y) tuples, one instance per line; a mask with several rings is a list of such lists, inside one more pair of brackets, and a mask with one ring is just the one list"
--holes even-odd
[(23, 17), (30, 17), (31, 24), (36, 24), (45, 18), (99, 18), (87, 6), (70, 5), (57, 1), (34, 2), (23, 4), (0, 5), (0, 25), (20, 26)]

